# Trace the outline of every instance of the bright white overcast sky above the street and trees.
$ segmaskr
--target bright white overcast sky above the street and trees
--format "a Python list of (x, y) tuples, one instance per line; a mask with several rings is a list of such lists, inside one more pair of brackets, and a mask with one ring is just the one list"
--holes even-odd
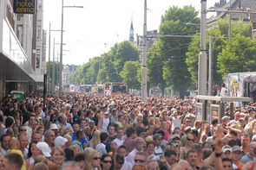
[[(63, 0), (63, 57), (64, 65), (82, 65), (95, 56), (108, 53), (115, 43), (129, 38), (129, 28), (133, 19), (135, 35), (143, 35), (144, 0)], [(207, 8), (220, 0), (208, 0)], [(161, 16), (170, 6), (192, 5), (200, 11), (200, 0), (147, 0), (147, 30), (158, 29)], [(74, 6), (83, 6), (75, 8)], [(214, 14), (207, 14), (207, 17)], [(199, 15), (200, 16), (200, 15)], [(59, 58), (62, 0), (43, 0), (43, 29), (47, 31), (47, 60)], [(58, 31), (59, 30), (59, 31)]]

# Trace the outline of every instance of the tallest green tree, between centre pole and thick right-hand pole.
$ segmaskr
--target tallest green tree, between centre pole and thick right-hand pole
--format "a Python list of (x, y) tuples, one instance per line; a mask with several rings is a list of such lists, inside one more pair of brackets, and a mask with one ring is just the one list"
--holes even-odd
[(165, 61), (163, 66), (163, 79), (167, 85), (171, 85), (175, 91), (180, 91), (181, 98), (185, 95), (191, 84), (191, 75), (187, 70), (186, 53), (191, 38), (167, 37), (164, 35), (191, 35), (195, 27), (187, 27), (187, 22), (199, 22), (198, 11), (194, 7), (184, 6), (170, 7), (167, 10), (160, 27), (161, 60)]

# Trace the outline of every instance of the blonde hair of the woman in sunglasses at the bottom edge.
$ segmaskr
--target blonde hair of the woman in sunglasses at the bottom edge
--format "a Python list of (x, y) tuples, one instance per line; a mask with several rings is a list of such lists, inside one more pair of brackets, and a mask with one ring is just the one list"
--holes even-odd
[[(84, 164), (83, 164), (83, 170), (89, 170), (91, 169), (91, 164), (93, 161), (94, 157), (100, 156), (99, 151), (95, 150), (95, 149), (89, 149), (87, 150), (87, 152), (85, 152), (84, 154)], [(102, 170), (102, 167), (99, 166), (97, 167), (98, 170)]]

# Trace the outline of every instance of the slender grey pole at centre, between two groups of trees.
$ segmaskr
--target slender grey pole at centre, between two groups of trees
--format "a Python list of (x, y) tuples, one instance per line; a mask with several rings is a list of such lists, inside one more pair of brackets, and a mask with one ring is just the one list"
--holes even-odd
[(143, 56), (142, 56), (142, 97), (144, 104), (147, 103), (147, 0), (144, 4), (144, 26), (143, 26)]

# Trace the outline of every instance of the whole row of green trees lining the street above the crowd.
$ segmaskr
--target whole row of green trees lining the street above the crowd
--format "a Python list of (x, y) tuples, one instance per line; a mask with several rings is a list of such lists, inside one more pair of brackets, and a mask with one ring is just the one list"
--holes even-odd
[[(199, 23), (199, 12), (192, 6), (170, 7), (160, 26), (159, 41), (150, 47), (148, 59), (148, 85), (157, 85), (162, 91), (171, 87), (183, 96), (197, 88), (200, 30), (187, 26), (187, 22)], [(220, 19), (207, 28), (207, 36), (213, 37), (213, 85), (220, 85), (228, 72), (255, 71), (255, 43), (251, 39), (251, 23), (242, 20), (232, 22), (232, 38), (229, 41), (229, 18)], [(184, 38), (168, 35), (194, 35)], [(208, 40), (207, 40), (207, 43)], [(208, 45), (207, 45), (208, 47)], [(207, 49), (208, 50), (208, 49)], [(74, 84), (122, 81), (129, 88), (141, 88), (141, 62), (139, 51), (129, 41), (115, 44), (111, 50), (83, 65), (71, 78)]]

